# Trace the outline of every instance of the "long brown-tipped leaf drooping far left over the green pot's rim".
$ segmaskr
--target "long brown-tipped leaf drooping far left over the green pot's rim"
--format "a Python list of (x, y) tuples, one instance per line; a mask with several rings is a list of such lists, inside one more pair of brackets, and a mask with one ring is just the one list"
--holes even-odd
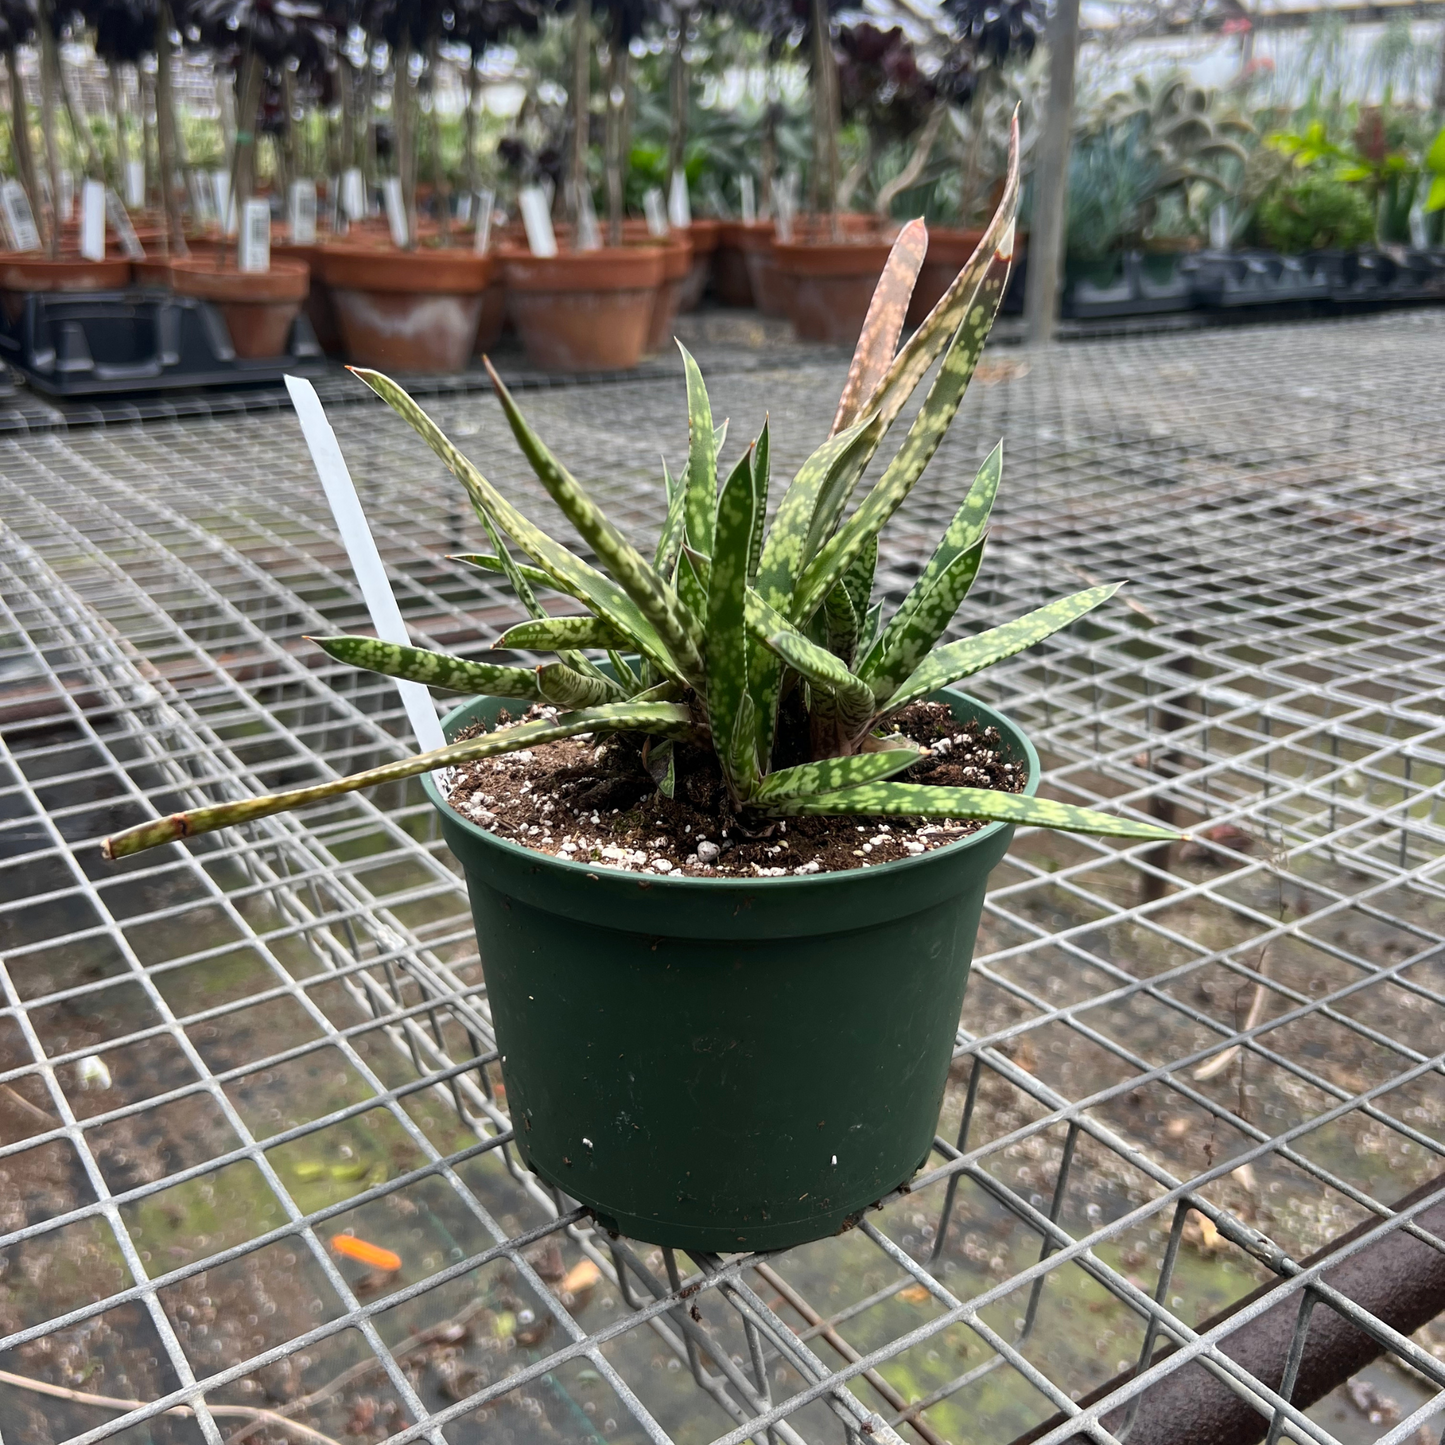
[(114, 834), (101, 844), (101, 853), (107, 858), (124, 858), (131, 853), (155, 848), (162, 842), (178, 842), (181, 838), (191, 838), (201, 832), (214, 832), (217, 828), (230, 828), (236, 824), (254, 822), (257, 818), (270, 818), (273, 814), (290, 812), (293, 808), (305, 808), (308, 803), (338, 798), (341, 793), (354, 793), (380, 783), (396, 783), (403, 777), (415, 777), (418, 773), (429, 773), (438, 767), (455, 767), (458, 763), (470, 763), (478, 757), (516, 753), (523, 747), (538, 747), (564, 737), (577, 737), (578, 733), (634, 731), (657, 733), (666, 737), (691, 737), (695, 727), (691, 711), (679, 704), (639, 704), (633, 701), (605, 708), (587, 708), (582, 712), (568, 712), (559, 718), (499, 728), (481, 737), (470, 737), (464, 743), (449, 743), (431, 753), (418, 753), (415, 757), (383, 763), (380, 767), (368, 767), (364, 773), (315, 783), (311, 788), (296, 788), (286, 793), (270, 793), (264, 798), (247, 798), (241, 802), (214, 803), (210, 808), (195, 808), (185, 814), (171, 814), (168, 818), (156, 818)]

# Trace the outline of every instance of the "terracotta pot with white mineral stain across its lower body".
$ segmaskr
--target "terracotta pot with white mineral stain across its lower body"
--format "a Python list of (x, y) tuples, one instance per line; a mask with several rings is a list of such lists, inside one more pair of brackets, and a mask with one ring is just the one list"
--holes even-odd
[(321, 247), (345, 353), (383, 371), (465, 370), (493, 272), (493, 257), (461, 249)]

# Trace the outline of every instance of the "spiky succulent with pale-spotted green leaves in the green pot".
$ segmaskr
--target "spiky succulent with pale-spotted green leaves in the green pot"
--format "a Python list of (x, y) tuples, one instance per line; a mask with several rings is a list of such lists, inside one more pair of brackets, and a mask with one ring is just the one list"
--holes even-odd
[[(655, 764), (657, 750), (678, 741), (711, 747), (740, 814), (1007, 819), (1131, 838), (1175, 837), (1152, 824), (1042, 798), (890, 780), (922, 756), (906, 740), (887, 736), (892, 714), (1048, 637), (1117, 590), (1091, 587), (1001, 627), (938, 644), (978, 572), (1001, 468), (996, 448), (886, 626), (881, 604), (870, 605), (879, 532), (938, 449), (993, 325), (1009, 276), (1017, 194), (1016, 127), (1003, 202), (978, 251), (894, 355), (926, 246), (920, 221), (903, 228), (874, 295), (832, 431), (793, 477), (772, 527), (764, 527), (767, 423), (720, 490), (722, 429), (714, 428), (702, 377), (683, 351), (688, 465), (681, 478), (666, 478), (668, 514), (652, 561), (548, 451), (496, 373), (493, 381), (522, 451), (601, 569), (529, 522), (394, 381), (358, 371), (467, 488), (496, 548), (467, 561), (504, 574), (532, 616), (497, 646), (546, 650), (556, 660), (536, 669), (509, 668), (373, 637), (316, 642), (341, 662), (387, 676), (566, 711), (337, 782), (142, 824), (108, 838), (105, 854), (121, 857), (581, 733), (647, 734), (655, 740)], [(845, 516), (868, 461), (939, 353), (942, 364), (903, 445)], [(530, 565), (513, 558), (509, 540)], [(551, 616), (536, 600), (538, 587), (575, 598), (585, 614)], [(605, 652), (611, 675), (588, 652)], [(777, 747), (780, 730), (793, 734), (786, 749)], [(776, 751), (796, 756), (799, 750), (808, 762), (773, 766)], [(670, 792), (673, 767), (657, 772), (663, 773), (660, 786)]]

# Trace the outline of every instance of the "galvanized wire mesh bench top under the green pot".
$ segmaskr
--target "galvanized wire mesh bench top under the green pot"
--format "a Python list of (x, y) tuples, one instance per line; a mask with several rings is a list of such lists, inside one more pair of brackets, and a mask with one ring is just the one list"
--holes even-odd
[[(1065, 1412), (1045, 1441), (1113, 1441), (1121, 1400), (1198, 1358), (1286, 1438), (1436, 1439), (1442, 1335), (1355, 1311), (1405, 1394), (1376, 1425), (1224, 1347), (1279, 1299), (1351, 1311), (1296, 1261), (1360, 1221), (1442, 1247), (1412, 1220), (1445, 1179), (1389, 1208), (1445, 1173), (1442, 366), (1423, 312), (988, 354), (880, 585), (902, 595), (1003, 435), (959, 630), (1130, 584), (978, 691), (1055, 796), (1198, 831), (1020, 834), (926, 1172), (767, 1259), (608, 1240), (520, 1169), (419, 788), (101, 861), (156, 809), (406, 750), (390, 685), (303, 642), (364, 614), (295, 423), (0, 441), (0, 1433), (936, 1445)], [(789, 355), (714, 407), (734, 447), (770, 412), (788, 474), (841, 374)], [(529, 407), (650, 538), (681, 383)], [(561, 527), (493, 400), (435, 410)], [(483, 652), (517, 614), (445, 559), (481, 545), (457, 486), (379, 403), (332, 419), (413, 631)], [(402, 1269), (340, 1256), (345, 1231)]]

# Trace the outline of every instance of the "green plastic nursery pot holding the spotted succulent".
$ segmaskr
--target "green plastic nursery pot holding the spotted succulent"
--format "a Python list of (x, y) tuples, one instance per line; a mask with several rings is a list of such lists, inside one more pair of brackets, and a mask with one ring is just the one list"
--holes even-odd
[[(1013, 722), (935, 701), (996, 727), (1038, 788)], [(448, 736), (503, 705), (474, 698)], [(1012, 824), (847, 873), (668, 879), (532, 853), (423, 782), (467, 874), (522, 1157), (604, 1228), (783, 1248), (923, 1163)]]

